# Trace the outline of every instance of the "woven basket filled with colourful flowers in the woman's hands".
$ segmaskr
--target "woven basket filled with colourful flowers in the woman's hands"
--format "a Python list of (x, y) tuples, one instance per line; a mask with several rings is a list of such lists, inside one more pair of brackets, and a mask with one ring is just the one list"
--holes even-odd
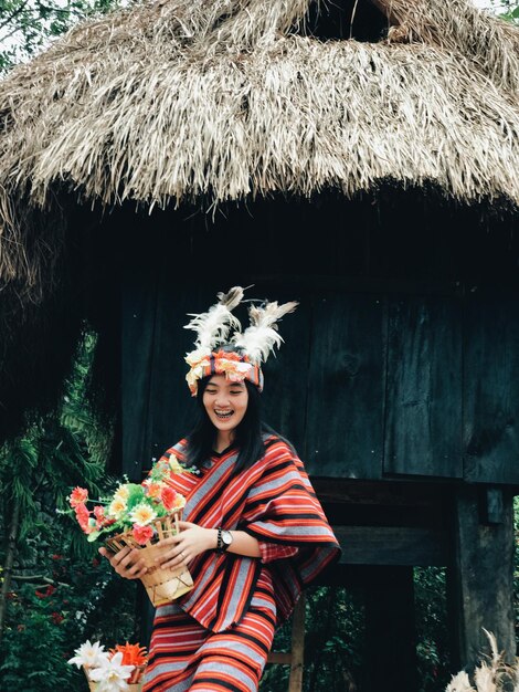
[(153, 606), (162, 606), (179, 598), (193, 587), (187, 567), (162, 569), (156, 562), (161, 548), (156, 544), (179, 532), (179, 521), (186, 497), (176, 492), (168, 482), (171, 474), (191, 470), (180, 464), (174, 454), (157, 462), (149, 476), (140, 485), (120, 483), (110, 497), (94, 503), (88, 510), (88, 492), (75, 487), (68, 503), (88, 541), (105, 536), (105, 545), (112, 553), (125, 546), (138, 548), (147, 573), (141, 581)]

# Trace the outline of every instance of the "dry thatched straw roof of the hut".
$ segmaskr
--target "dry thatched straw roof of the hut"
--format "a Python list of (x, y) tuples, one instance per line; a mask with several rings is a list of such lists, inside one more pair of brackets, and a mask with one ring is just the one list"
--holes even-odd
[(518, 206), (519, 31), (470, 0), (372, 1), (389, 27), (375, 43), (305, 35), (313, 0), (159, 0), (14, 69), (0, 82), (4, 286), (22, 302), (51, 291), (76, 202), (353, 197), (391, 180)]

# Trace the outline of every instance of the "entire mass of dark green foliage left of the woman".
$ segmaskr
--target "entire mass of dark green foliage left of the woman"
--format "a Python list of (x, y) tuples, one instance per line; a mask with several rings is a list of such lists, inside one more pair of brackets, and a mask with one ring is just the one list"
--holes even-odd
[(102, 494), (113, 483), (105, 473), (112, 428), (102, 427), (85, 405), (94, 346), (87, 335), (61, 411), (0, 452), (2, 564), (15, 552), (7, 593), (8, 581), (0, 579), (0, 690), (86, 690), (83, 674), (67, 663), (73, 650), (86, 639), (112, 647), (137, 638), (137, 585), (121, 580), (77, 523), (56, 513), (73, 486)]

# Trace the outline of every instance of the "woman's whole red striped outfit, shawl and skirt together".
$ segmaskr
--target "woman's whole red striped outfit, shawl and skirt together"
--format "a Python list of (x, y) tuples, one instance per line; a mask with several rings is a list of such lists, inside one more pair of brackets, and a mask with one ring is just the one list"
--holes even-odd
[[(237, 450), (208, 460), (200, 475), (173, 474), (183, 516), (206, 528), (246, 531), (261, 558), (202, 553), (189, 565), (194, 587), (157, 609), (145, 692), (256, 692), (274, 629), (301, 589), (340, 548), (303, 462), (277, 437), (235, 472)], [(186, 461), (187, 441), (168, 450)]]

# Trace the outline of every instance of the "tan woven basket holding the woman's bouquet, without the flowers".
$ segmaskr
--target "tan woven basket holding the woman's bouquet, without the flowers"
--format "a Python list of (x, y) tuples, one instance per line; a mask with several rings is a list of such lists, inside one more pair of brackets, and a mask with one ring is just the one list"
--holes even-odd
[[(179, 533), (181, 514), (181, 512), (174, 512), (174, 514), (163, 516), (153, 522), (153, 526), (157, 528), (157, 541), (169, 538)], [(158, 563), (155, 562), (156, 557), (160, 557), (162, 551), (150, 541), (148, 541), (145, 546), (141, 546), (136, 542), (131, 532), (126, 532), (107, 538), (105, 543), (107, 548), (114, 554), (126, 546), (137, 548), (140, 552), (140, 557), (144, 558), (145, 565), (148, 568), (148, 572), (140, 580), (145, 585), (146, 591), (153, 606), (163, 606), (176, 598), (180, 598), (180, 596), (193, 588), (193, 580), (187, 567), (182, 565), (174, 570), (162, 569)]]

